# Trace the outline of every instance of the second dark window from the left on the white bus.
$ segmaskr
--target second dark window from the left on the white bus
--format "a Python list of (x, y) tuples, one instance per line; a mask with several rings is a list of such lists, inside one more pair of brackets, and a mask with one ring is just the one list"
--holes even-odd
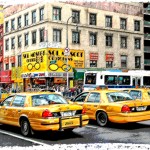
[(106, 85), (116, 85), (117, 84), (117, 76), (114, 75), (105, 75), (105, 81), (104, 83)]

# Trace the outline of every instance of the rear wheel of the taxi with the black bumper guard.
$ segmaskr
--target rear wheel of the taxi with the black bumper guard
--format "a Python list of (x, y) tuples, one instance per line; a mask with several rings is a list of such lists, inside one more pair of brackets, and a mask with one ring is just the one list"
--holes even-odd
[(24, 136), (31, 135), (31, 127), (30, 127), (29, 121), (27, 119), (21, 120), (21, 133)]

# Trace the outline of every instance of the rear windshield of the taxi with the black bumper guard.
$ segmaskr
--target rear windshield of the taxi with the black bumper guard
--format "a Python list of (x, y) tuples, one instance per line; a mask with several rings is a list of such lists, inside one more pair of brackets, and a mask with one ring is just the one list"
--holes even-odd
[(33, 106), (49, 104), (68, 104), (68, 102), (59, 94), (38, 94), (32, 96)]

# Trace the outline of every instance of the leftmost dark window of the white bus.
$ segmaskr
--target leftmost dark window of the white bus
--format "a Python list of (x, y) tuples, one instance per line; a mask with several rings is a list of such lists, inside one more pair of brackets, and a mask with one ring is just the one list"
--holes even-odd
[(88, 73), (85, 75), (85, 84), (96, 84), (96, 73)]

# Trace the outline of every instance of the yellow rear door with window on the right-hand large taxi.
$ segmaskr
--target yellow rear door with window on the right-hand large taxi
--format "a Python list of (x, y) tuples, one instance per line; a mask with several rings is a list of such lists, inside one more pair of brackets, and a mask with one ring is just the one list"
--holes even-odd
[(99, 103), (100, 103), (100, 93), (91, 92), (83, 105), (90, 119), (95, 118), (95, 113), (99, 107)]

